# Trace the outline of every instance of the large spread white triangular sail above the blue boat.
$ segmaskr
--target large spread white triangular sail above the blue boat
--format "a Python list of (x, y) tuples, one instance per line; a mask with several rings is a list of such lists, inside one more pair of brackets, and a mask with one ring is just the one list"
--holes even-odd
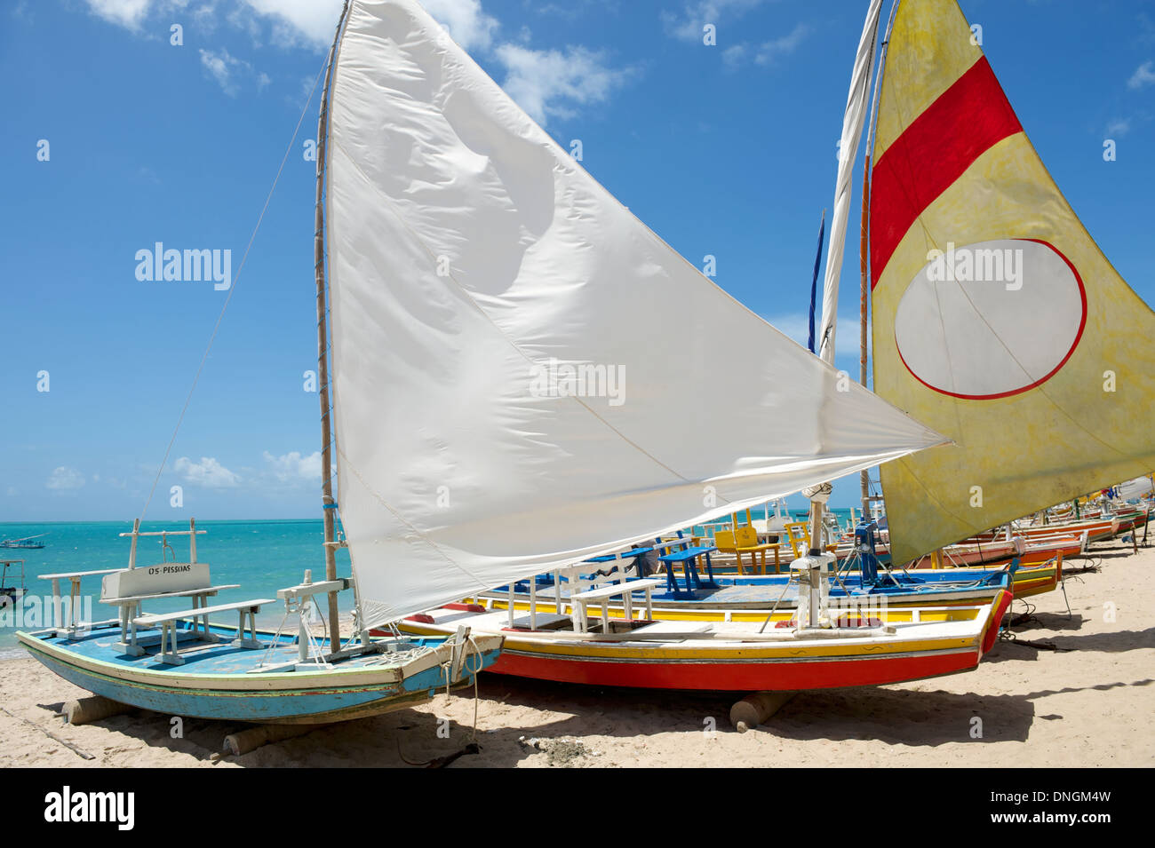
[(351, 5), (328, 141), (368, 625), (942, 442), (706, 279), (411, 0)]

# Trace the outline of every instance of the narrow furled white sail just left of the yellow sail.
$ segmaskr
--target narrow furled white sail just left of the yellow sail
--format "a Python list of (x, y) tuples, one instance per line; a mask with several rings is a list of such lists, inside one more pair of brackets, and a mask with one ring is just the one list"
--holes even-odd
[(871, 0), (866, 22), (858, 39), (855, 68), (850, 75), (847, 108), (842, 115), (842, 138), (839, 142), (839, 175), (834, 185), (834, 217), (830, 243), (826, 250), (826, 277), (822, 284), (822, 323), (815, 345), (818, 355), (834, 362), (834, 336), (839, 323), (839, 278), (842, 275), (842, 255), (847, 246), (847, 223), (850, 216), (850, 195), (854, 188), (855, 156), (866, 122), (870, 102), (871, 70), (874, 66), (874, 44), (878, 40), (878, 20), (882, 0)]

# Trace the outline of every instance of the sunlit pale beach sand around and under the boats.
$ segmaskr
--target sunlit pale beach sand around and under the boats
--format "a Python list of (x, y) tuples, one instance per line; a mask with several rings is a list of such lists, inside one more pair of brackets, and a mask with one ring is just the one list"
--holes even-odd
[[(1095, 563), (1097, 572), (1067, 577), (1071, 617), (1061, 591), (1027, 599), (1034, 621), (1015, 628), (1020, 644), (999, 641), (976, 671), (802, 693), (768, 726), (746, 734), (730, 726), (735, 698), (728, 695), (483, 675), (480, 753), (452, 767), (1150, 766), (1155, 547), (1135, 555), (1130, 543), (1100, 545), (1068, 569)], [(1013, 611), (1024, 609), (1016, 601)], [(1021, 644), (1027, 640), (1061, 650)], [(475, 707), (472, 691), (463, 690), (221, 758), (224, 736), (244, 726), (188, 719), (184, 737), (172, 738), (167, 716), (143, 711), (68, 726), (55, 711), (82, 695), (35, 660), (0, 662), (0, 766), (410, 767), (405, 759), (424, 763), (460, 751), (470, 741)]]

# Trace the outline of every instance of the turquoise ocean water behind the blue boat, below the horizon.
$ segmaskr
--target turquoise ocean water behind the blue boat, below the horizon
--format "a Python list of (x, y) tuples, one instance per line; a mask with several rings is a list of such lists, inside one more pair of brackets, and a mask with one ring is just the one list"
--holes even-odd
[[(849, 510), (833, 510), (839, 521), (845, 525), (850, 517)], [(791, 510), (799, 520), (805, 519), (805, 511)], [(761, 518), (760, 510), (752, 510), (754, 518)], [(276, 521), (198, 521), (198, 530), (207, 533), (196, 538), (196, 558), (211, 566), (213, 583), (240, 584), (240, 588), (225, 590), (214, 601), (226, 603), (243, 601), (249, 598), (271, 598), (276, 590), (300, 583), (306, 569), (312, 569), (313, 579), (325, 576), (325, 553), (321, 546), (323, 531), (321, 520), (276, 520)], [(47, 600), (52, 594), (49, 580), (37, 579), (40, 575), (66, 571), (97, 571), (102, 569), (125, 568), (128, 564), (129, 540), (121, 539), (120, 533), (132, 530), (129, 521), (81, 521), (73, 524), (2, 524), (0, 539), (18, 539), (40, 535), (45, 543), (40, 550), (18, 550), (0, 548), (0, 560), (24, 561), (24, 586), (28, 599), (23, 606), (24, 629), (31, 624), (44, 626), (46, 621), (32, 620), (35, 614), (42, 616)], [(187, 521), (147, 521), (142, 531), (188, 530)], [(188, 561), (188, 536), (174, 536), (170, 543), (178, 562)], [(172, 554), (169, 555), (172, 560)], [(162, 561), (158, 536), (144, 536), (140, 540), (136, 551), (137, 565), (152, 565)], [(337, 573), (348, 577), (351, 572), (349, 551), (337, 551)], [(67, 593), (68, 584), (64, 581), (61, 591)], [(81, 583), (84, 596), (91, 602), (91, 618), (104, 620), (116, 616), (112, 607), (97, 602), (100, 594), (100, 578), (88, 577)], [(341, 611), (352, 609), (352, 592), (338, 595)], [(83, 603), (83, 602), (82, 602)], [(188, 599), (171, 601), (154, 601), (146, 611), (165, 613), (187, 609)], [(84, 607), (82, 606), (82, 609)], [(17, 641), (14, 632), (21, 628), (14, 610), (9, 615), (0, 615), (0, 659), (12, 655)], [(281, 623), (283, 608), (266, 607), (258, 617), (258, 625), (276, 628)], [(88, 618), (88, 616), (82, 616)], [(224, 621), (222, 618), (222, 621)]]

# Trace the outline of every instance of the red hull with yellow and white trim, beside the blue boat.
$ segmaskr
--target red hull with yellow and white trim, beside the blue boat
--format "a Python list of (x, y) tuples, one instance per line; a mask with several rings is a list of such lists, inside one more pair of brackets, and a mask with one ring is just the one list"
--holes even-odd
[(803, 636), (768, 644), (742, 638), (757, 630), (753, 625), (715, 624), (694, 635), (678, 632), (677, 623), (657, 622), (648, 626), (665, 624), (668, 641), (643, 641), (641, 629), (616, 637), (636, 640), (604, 641), (596, 635), (502, 630), (501, 614), (464, 610), (434, 610), (423, 621), (407, 620), (402, 629), (434, 635), (469, 623), (475, 632), (500, 630), (505, 647), (490, 668), (497, 674), (602, 686), (797, 691), (881, 685), (973, 670), (993, 645), (1009, 605), (1011, 593), (1000, 592), (983, 607), (888, 611), (888, 620), (904, 617), (895, 624), (894, 636)]

